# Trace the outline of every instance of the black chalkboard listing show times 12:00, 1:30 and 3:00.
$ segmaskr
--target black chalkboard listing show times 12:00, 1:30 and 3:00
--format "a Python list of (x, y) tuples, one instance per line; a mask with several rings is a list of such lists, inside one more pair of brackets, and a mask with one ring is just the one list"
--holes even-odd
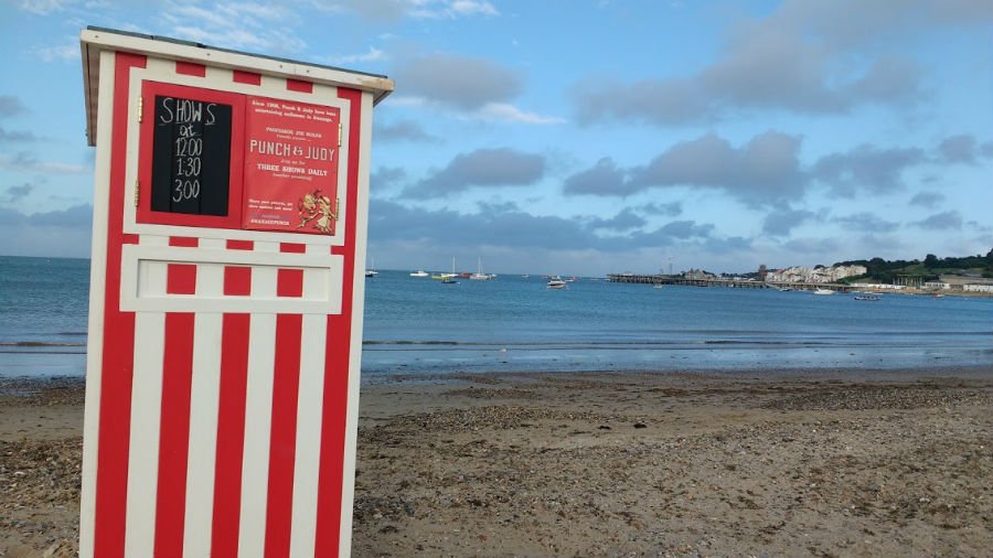
[(157, 95), (151, 210), (227, 215), (232, 106)]

